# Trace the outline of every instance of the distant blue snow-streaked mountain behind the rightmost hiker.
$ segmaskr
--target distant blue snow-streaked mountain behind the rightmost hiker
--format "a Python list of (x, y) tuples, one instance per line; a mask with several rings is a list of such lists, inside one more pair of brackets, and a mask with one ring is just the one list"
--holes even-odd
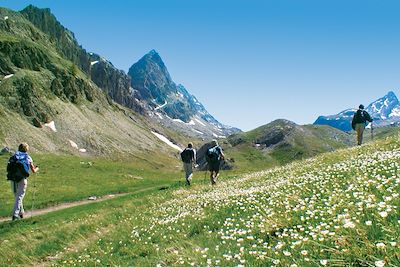
[[(314, 124), (330, 125), (343, 131), (351, 130), (351, 120), (357, 109), (346, 109), (336, 115), (319, 116)], [(374, 119), (376, 126), (400, 122), (400, 102), (392, 91), (372, 102), (365, 109)]]

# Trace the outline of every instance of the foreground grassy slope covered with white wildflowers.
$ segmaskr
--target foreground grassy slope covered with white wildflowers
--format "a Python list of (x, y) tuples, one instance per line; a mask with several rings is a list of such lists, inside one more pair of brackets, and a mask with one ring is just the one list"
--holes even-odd
[(3, 265), (399, 266), (398, 138), (2, 224)]

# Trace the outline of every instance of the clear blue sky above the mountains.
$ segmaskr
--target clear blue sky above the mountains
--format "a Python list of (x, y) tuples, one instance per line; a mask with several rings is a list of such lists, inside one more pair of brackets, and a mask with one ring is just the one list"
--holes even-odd
[(0, 0), (28, 4), (125, 71), (157, 50), (176, 83), (243, 130), (399, 93), (400, 1)]

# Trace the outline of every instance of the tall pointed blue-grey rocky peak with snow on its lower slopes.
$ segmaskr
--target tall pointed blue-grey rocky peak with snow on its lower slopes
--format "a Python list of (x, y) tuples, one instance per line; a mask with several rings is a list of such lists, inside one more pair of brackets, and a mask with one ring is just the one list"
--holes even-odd
[(133, 64), (128, 74), (139, 98), (147, 102), (149, 115), (160, 123), (202, 138), (240, 131), (218, 122), (183, 85), (177, 85), (155, 50)]

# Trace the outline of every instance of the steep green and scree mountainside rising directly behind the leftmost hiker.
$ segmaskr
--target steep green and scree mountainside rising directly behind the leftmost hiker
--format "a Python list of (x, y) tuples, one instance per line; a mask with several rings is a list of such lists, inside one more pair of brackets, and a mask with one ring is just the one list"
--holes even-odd
[(2, 146), (13, 148), (26, 140), (33, 152), (129, 155), (160, 165), (170, 164), (176, 152), (152, 132), (180, 146), (188, 142), (114, 102), (58, 51), (49, 35), (5, 8), (0, 9), (0, 58)]

